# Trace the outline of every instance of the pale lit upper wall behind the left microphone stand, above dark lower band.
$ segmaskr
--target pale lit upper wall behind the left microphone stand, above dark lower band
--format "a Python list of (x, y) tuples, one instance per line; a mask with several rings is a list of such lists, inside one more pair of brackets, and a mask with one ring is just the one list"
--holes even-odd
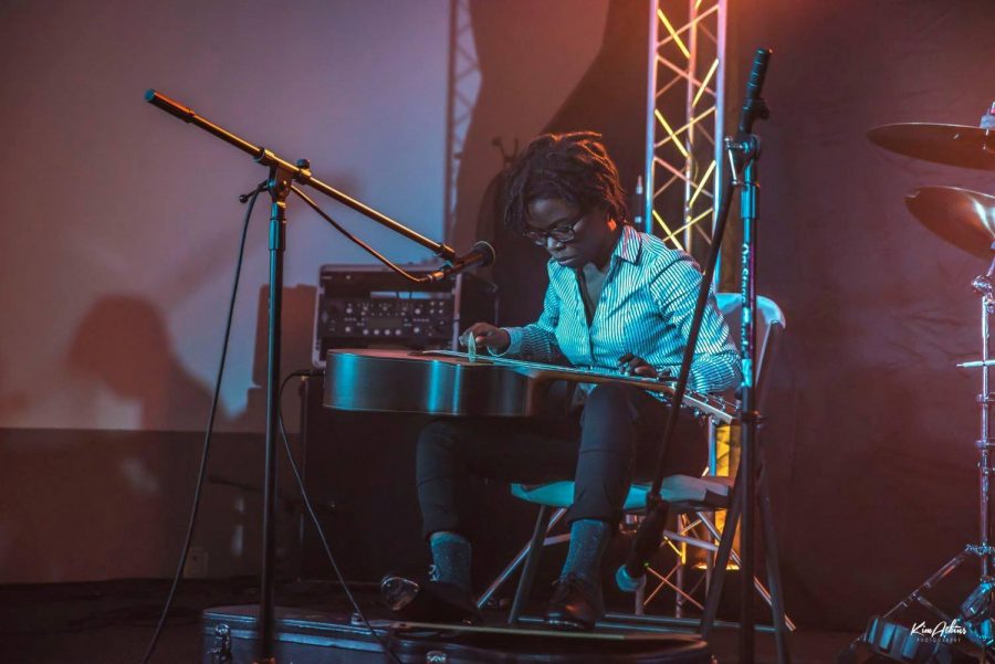
[[(243, 214), (235, 197), (265, 172), (145, 104), (146, 88), (307, 157), (333, 186), (440, 235), (443, 0), (24, 2), (4, 14), (3, 175), (20, 187), (0, 250), (0, 425), (203, 425)], [(321, 202), (395, 259), (428, 257)], [(266, 278), (261, 208), (223, 389), (230, 429), (243, 429)], [(289, 286), (313, 284), (323, 263), (369, 262), (300, 201), (290, 220)], [(133, 384), (124, 363), (170, 397)]]

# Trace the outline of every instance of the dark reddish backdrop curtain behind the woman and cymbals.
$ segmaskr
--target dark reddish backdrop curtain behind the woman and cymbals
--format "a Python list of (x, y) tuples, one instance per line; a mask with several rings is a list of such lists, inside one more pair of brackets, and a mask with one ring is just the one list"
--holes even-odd
[[(903, 197), (923, 185), (992, 193), (995, 178), (891, 155), (866, 133), (977, 124), (995, 98), (995, 2), (729, 4), (731, 115), (754, 49), (774, 50), (772, 116), (757, 125), (758, 278), (787, 316), (764, 434), (787, 608), (804, 625), (855, 629), (978, 535), (978, 377), (954, 363), (978, 354), (971, 282), (987, 266), (920, 226)], [(647, 13), (611, 3), (601, 53), (547, 126), (605, 133), (627, 188), (641, 170)], [(493, 200), (479, 209), (493, 229)], [(543, 255), (498, 241), (514, 256), (495, 272), (503, 320), (534, 318)], [(970, 576), (939, 597), (963, 599)]]

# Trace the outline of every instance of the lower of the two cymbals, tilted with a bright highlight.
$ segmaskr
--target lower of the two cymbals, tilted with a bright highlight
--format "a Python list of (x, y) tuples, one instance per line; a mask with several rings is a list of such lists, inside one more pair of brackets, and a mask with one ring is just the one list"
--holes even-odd
[(991, 260), (995, 196), (957, 187), (920, 187), (905, 197), (909, 211), (951, 244)]

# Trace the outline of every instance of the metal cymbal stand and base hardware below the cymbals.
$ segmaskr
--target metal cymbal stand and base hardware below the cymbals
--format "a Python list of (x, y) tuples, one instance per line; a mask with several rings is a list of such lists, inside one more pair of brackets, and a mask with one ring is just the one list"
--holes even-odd
[[(961, 362), (959, 367), (978, 368), (982, 371), (981, 393), (976, 401), (980, 410), (980, 435), (975, 445), (978, 450), (978, 544), (968, 544), (960, 554), (954, 556), (946, 565), (941, 567), (929, 579), (909, 593), (902, 601), (892, 607), (881, 616), (873, 616), (868, 623), (867, 631), (858, 637), (850, 647), (840, 654), (839, 662), (852, 661), (857, 647), (861, 644), (879, 654), (889, 655), (898, 650), (907, 653), (920, 651), (923, 656), (926, 652), (936, 652), (942, 646), (950, 646), (957, 637), (963, 636), (981, 649), (981, 664), (995, 662), (995, 620), (992, 611), (995, 608), (995, 577), (992, 576), (993, 561), (995, 561), (995, 547), (989, 541), (991, 534), (991, 476), (995, 468), (992, 466), (992, 450), (995, 449), (995, 439), (992, 438), (992, 407), (995, 405), (995, 393), (989, 391), (988, 371), (995, 361), (989, 359), (991, 318), (995, 314), (995, 243), (992, 244), (993, 260), (988, 271), (974, 278), (972, 289), (981, 297), (981, 335), (982, 359), (981, 361)], [(977, 558), (980, 563), (978, 583), (960, 607), (960, 612), (951, 618), (942, 609), (933, 604), (924, 592), (931, 590), (940, 581), (945, 579), (963, 562)], [(920, 604), (936, 615), (942, 623), (946, 623), (946, 630), (939, 635), (932, 634), (932, 640), (924, 639), (922, 632), (912, 625), (912, 629), (898, 626), (891, 618), (910, 607)], [(942, 624), (941, 623), (941, 624)], [(898, 628), (896, 630), (896, 628)], [(899, 639), (894, 635), (901, 634)], [(886, 643), (888, 641), (889, 643)], [(935, 646), (932, 644), (935, 643)], [(901, 661), (912, 661), (902, 658)]]

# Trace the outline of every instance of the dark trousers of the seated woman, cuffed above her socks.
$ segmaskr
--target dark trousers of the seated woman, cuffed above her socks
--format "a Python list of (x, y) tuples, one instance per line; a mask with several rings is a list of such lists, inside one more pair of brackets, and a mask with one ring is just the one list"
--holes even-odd
[[(652, 478), (669, 407), (636, 387), (607, 383), (587, 397), (579, 421), (465, 418), (437, 420), (418, 438), (423, 533), (469, 533), (469, 476), (507, 483), (575, 483), (567, 520), (621, 518), (629, 484)], [(700, 475), (705, 424), (682, 414), (667, 451), (668, 474)]]

